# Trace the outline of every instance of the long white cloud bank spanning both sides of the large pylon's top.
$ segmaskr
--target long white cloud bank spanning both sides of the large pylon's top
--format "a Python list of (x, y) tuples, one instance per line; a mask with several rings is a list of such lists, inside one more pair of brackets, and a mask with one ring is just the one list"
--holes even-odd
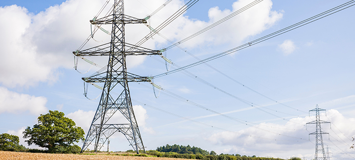
[[(89, 36), (89, 19), (94, 17), (105, 1), (67, 0), (60, 5), (50, 6), (37, 14), (29, 13), (26, 8), (17, 5), (0, 7), (0, 34), (2, 35), (0, 43), (3, 46), (0, 53), (2, 57), (0, 60), (0, 83), (7, 87), (15, 87), (33, 86), (38, 82), (57, 80), (58, 68), (70, 69), (73, 67), (72, 51), (75, 51)], [(125, 13), (143, 18), (152, 12), (152, 8), (156, 8), (164, 2), (165, 0), (126, 1)], [(208, 11), (209, 21), (207, 22), (189, 19), (188, 16), (180, 16), (161, 33), (172, 40), (182, 39), (248, 3), (250, 0), (238, 0), (233, 3), (232, 10), (220, 10), (218, 7), (213, 7)], [(169, 3), (151, 18), (152, 27), (157, 27), (183, 5), (182, 0), (174, 0)], [(272, 1), (264, 0), (233, 19), (211, 29), (208, 33), (194, 38), (193, 41), (196, 43), (185, 43), (184, 45), (185, 47), (194, 47), (195, 44), (240, 43), (249, 36), (261, 33), (282, 17), (281, 12), (273, 11), (271, 7)], [(106, 11), (104, 10), (103, 13)], [(17, 20), (13, 21), (12, 19)], [(8, 21), (11, 23), (7, 23)], [(110, 26), (103, 27), (110, 30)], [(145, 25), (127, 25), (126, 40), (134, 44), (148, 33), (149, 29)], [(104, 40), (104, 42), (110, 39), (100, 31), (95, 34), (95, 38), (98, 41)], [(104, 42), (97, 43), (90, 40), (85, 47), (89, 48)], [(166, 40), (155, 38), (143, 46), (159, 49), (166, 45)], [(144, 60), (144, 56), (131, 56), (127, 59), (127, 64), (128, 67), (135, 67), (142, 64)], [(106, 64), (106, 61), (97, 60), (101, 64)]]

